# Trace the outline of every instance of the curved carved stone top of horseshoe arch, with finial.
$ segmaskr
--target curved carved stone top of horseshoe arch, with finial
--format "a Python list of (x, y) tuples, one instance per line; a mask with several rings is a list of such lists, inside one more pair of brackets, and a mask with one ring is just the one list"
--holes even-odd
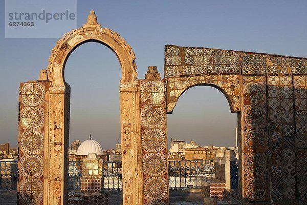
[(98, 42), (111, 49), (121, 65), (122, 77), (120, 84), (133, 84), (137, 78), (135, 54), (127, 42), (116, 32), (102, 28), (97, 23), (94, 11), (87, 17), (87, 23), (82, 28), (65, 33), (57, 41), (49, 57), (48, 77), (53, 87), (63, 87), (64, 66), (69, 55), (86, 42)]

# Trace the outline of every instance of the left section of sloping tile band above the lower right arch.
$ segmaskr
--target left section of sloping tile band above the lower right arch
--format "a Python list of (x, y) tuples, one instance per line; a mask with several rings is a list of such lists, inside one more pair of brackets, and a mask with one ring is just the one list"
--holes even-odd
[(239, 73), (239, 52), (165, 46), (166, 76)]

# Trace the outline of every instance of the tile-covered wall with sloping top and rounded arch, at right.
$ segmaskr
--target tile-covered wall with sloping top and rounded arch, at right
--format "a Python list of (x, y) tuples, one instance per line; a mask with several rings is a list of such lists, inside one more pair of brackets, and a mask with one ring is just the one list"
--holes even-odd
[(168, 113), (203, 84), (238, 112), (241, 200), (307, 202), (307, 58), (166, 45), (164, 74)]

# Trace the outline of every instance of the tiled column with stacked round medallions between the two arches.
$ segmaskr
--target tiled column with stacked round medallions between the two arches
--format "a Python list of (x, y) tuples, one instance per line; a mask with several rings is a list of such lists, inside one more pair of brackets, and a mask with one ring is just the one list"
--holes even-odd
[(144, 205), (168, 204), (164, 83), (140, 80)]

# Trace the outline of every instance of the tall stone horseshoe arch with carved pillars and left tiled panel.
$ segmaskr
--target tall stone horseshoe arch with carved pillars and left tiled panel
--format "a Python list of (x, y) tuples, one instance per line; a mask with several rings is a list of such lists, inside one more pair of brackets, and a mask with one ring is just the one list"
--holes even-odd
[[(68, 142), (70, 122), (70, 86), (65, 83), (64, 67), (69, 55), (86, 42), (97, 42), (111, 49), (121, 65), (120, 122), (123, 163), (123, 204), (142, 204), (140, 166), (140, 91), (135, 54), (120, 35), (97, 23), (94, 11), (82, 28), (72, 30), (58, 40), (49, 58), (48, 71), (42, 70), (37, 81), (20, 84), (19, 138), (20, 170), (31, 170), (26, 160), (35, 160), (39, 174), (23, 172), (18, 179), (20, 203), (68, 204)], [(48, 75), (47, 75), (48, 73)], [(32, 98), (35, 95), (35, 102)], [(33, 114), (35, 112), (35, 114)], [(35, 117), (34, 117), (35, 115)], [(34, 133), (34, 134), (32, 134)], [(40, 139), (39, 149), (24, 146), (28, 136)], [(30, 151), (29, 151), (30, 150)], [(36, 158), (31, 157), (35, 156)], [(33, 162), (33, 163), (34, 163)], [(35, 184), (34, 182), (35, 181)], [(99, 181), (99, 179), (98, 179)], [(99, 183), (99, 182), (98, 182)], [(35, 187), (36, 191), (27, 192)]]

